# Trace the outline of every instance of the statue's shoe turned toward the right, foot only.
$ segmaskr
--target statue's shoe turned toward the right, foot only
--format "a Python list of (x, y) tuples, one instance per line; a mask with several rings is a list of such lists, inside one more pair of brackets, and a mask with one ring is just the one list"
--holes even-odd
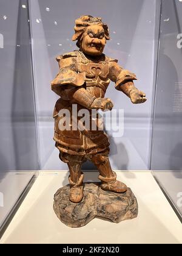
[(112, 182), (103, 182), (101, 184), (101, 188), (103, 190), (109, 190), (116, 193), (124, 193), (127, 191), (127, 186), (118, 180), (114, 180)]

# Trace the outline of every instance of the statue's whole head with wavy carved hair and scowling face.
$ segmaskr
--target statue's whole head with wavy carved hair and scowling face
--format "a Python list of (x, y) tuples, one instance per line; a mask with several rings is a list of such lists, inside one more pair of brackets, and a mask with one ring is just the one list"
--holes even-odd
[(109, 40), (109, 29), (101, 18), (84, 15), (75, 21), (75, 34), (72, 40), (88, 55), (98, 56), (103, 53), (106, 40)]

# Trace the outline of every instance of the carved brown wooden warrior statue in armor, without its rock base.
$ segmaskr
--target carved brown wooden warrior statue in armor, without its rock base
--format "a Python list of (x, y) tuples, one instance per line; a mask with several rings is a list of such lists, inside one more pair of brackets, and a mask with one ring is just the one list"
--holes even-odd
[[(101, 18), (90, 15), (76, 20), (75, 34), (79, 50), (58, 55), (59, 73), (52, 81), (52, 90), (60, 96), (55, 105), (56, 147), (59, 158), (69, 166), (69, 200), (78, 203), (83, 199), (83, 179), (81, 165), (90, 160), (98, 168), (101, 189), (116, 193), (125, 193), (127, 186), (116, 180), (109, 162), (109, 141), (103, 130), (60, 130), (59, 111), (67, 109), (72, 113), (73, 104), (77, 111), (87, 108), (92, 118), (92, 109), (112, 110), (113, 103), (104, 98), (110, 80), (115, 88), (126, 94), (133, 104), (146, 101), (146, 94), (138, 90), (133, 80), (136, 76), (117, 64), (118, 60), (103, 54), (109, 29)], [(70, 126), (72, 126), (70, 124)], [(72, 127), (71, 127), (72, 128)]]

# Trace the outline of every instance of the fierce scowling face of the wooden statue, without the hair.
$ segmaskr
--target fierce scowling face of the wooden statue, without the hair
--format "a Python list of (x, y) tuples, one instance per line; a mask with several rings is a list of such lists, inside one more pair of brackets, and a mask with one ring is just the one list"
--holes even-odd
[(106, 38), (102, 25), (93, 24), (87, 27), (81, 41), (81, 49), (88, 55), (98, 56), (103, 53)]

